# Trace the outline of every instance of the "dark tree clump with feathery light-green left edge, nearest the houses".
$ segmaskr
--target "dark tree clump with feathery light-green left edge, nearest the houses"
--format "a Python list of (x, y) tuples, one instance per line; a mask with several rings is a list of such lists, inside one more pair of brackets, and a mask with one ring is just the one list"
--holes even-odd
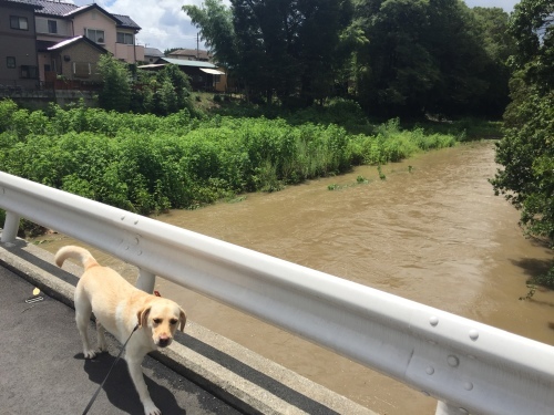
[(302, 104), (330, 93), (350, 0), (207, 0), (183, 9), (253, 95)]

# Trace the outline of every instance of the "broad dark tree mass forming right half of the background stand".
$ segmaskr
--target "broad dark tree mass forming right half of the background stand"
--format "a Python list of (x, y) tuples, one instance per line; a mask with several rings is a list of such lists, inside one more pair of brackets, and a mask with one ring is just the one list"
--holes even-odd
[[(505, 25), (507, 14), (502, 18)], [(489, 29), (489, 22), (462, 1), (357, 0), (355, 19), (369, 39), (358, 54), (366, 69), (359, 79), (359, 100), (369, 112), (480, 114), (499, 102), (500, 116), (507, 76), (499, 76), (505, 68), (499, 63), (500, 52), (493, 56), (493, 46), (501, 49), (504, 39), (489, 34), (492, 24)]]

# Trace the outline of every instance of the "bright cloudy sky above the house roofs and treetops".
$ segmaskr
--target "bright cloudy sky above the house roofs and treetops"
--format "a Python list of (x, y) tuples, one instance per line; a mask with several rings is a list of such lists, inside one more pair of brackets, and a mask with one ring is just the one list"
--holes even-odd
[[(72, 1), (72, 0), (66, 0)], [(464, 0), (469, 7), (500, 7), (513, 11), (519, 0)], [(75, 4), (90, 4), (91, 0), (73, 0)], [(137, 44), (157, 48), (162, 52), (171, 48), (196, 48), (197, 30), (182, 10), (184, 4), (201, 6), (202, 0), (96, 0), (111, 13), (131, 17), (142, 30)], [(228, 2), (228, 1), (226, 1)], [(201, 49), (203, 48), (201, 41)]]

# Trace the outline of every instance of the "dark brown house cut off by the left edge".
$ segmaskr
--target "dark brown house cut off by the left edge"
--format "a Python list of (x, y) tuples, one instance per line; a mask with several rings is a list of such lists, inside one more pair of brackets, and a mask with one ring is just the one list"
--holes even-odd
[(0, 0), (0, 90), (34, 89), (38, 81), (34, 11), (39, 7)]

